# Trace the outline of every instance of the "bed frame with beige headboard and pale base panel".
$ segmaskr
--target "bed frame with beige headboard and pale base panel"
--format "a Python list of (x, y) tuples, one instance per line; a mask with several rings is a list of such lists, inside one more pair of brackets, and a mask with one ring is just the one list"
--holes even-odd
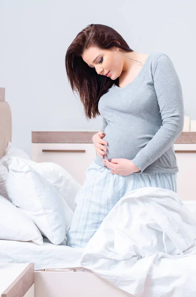
[[(0, 88), (0, 158), (12, 139), (11, 110), (5, 102), (5, 89)], [(89, 271), (77, 269), (36, 270), (35, 297), (131, 297), (108, 281)], [(23, 296), (22, 292), (21, 295)]]

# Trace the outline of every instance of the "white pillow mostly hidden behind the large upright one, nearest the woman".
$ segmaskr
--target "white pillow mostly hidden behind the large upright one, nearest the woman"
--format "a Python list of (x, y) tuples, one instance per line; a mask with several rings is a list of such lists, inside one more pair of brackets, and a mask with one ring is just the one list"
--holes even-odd
[[(18, 157), (17, 157), (18, 158)], [(7, 159), (3, 165), (8, 168), (13, 158)], [(19, 162), (30, 165), (34, 170), (40, 173), (50, 185), (52, 185), (66, 200), (70, 208), (75, 211), (75, 197), (81, 189), (81, 185), (66, 171), (63, 167), (52, 162), (37, 163), (32, 160), (18, 158)]]

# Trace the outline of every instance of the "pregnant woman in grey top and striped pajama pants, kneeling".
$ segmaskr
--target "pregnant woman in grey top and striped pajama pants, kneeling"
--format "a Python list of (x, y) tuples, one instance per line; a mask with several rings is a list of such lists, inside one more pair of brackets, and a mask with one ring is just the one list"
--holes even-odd
[(125, 194), (142, 187), (177, 191), (173, 144), (183, 130), (183, 94), (166, 54), (136, 52), (106, 25), (79, 32), (65, 63), (86, 118), (103, 118), (67, 232), (67, 246), (85, 247)]

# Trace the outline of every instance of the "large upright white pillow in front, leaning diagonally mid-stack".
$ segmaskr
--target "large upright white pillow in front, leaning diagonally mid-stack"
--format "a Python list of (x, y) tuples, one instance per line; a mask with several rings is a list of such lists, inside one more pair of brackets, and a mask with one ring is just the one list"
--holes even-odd
[[(67, 240), (66, 232), (73, 218), (72, 209), (58, 191), (24, 159), (10, 159), (5, 187), (12, 203), (33, 219), (41, 234), (51, 243), (59, 245)], [(8, 160), (3, 163), (7, 164)]]

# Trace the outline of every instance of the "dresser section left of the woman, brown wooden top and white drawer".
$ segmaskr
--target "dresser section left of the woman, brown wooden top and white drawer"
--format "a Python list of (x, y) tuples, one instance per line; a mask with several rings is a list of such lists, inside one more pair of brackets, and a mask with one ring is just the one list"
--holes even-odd
[(96, 157), (93, 132), (32, 132), (32, 160), (54, 162), (83, 185), (85, 171)]

